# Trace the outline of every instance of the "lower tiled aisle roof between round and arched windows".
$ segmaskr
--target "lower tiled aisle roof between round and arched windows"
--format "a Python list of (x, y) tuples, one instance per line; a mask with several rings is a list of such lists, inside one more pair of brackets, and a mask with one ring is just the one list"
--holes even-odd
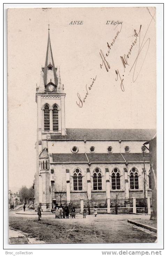
[[(88, 159), (87, 159), (87, 157)], [(123, 155), (123, 157), (122, 157)], [(143, 153), (89, 153), (89, 154), (52, 154), (53, 162), (55, 163), (96, 163), (96, 162), (108, 162), (108, 163), (125, 163), (126, 162), (143, 162)], [(149, 154), (145, 153), (145, 162), (149, 162)], [(125, 160), (124, 160), (125, 159)], [(89, 161), (88, 161), (89, 160)]]

